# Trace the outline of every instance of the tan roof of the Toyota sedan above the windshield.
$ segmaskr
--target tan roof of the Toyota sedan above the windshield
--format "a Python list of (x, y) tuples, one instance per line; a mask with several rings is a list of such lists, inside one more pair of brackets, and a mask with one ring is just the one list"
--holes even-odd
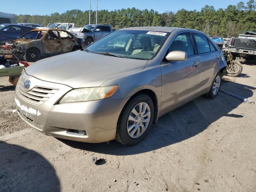
[(128, 27), (120, 30), (151, 30), (151, 31), (162, 31), (162, 32), (173, 32), (174, 30), (181, 30), (181, 31), (184, 30), (184, 31), (200, 32), (194, 29), (177, 28), (177, 27)]

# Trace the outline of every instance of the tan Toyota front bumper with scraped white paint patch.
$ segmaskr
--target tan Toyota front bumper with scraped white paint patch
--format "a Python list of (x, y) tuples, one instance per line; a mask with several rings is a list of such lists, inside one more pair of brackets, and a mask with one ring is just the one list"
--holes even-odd
[[(24, 90), (22, 85), (27, 79), (31, 86)], [(28, 93), (38, 90), (38, 86), (54, 88), (54, 94), (38, 103), (27, 98)], [(119, 115), (129, 98), (116, 100), (110, 97), (90, 102), (56, 104), (71, 89), (69, 86), (44, 82), (23, 73), (15, 91), (15, 103), (20, 118), (48, 136), (91, 143), (113, 140)], [(83, 130), (85, 134), (70, 130)]]

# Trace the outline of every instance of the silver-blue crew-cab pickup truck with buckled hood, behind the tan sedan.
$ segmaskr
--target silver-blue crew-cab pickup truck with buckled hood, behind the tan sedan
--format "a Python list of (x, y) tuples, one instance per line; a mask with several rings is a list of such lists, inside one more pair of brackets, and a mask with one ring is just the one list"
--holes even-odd
[(92, 42), (102, 38), (112, 31), (113, 29), (110, 25), (104, 24), (89, 24), (80, 28), (74, 27), (70, 29), (72, 34), (74, 34), (78, 39), (81, 39), (83, 47), (88, 46)]

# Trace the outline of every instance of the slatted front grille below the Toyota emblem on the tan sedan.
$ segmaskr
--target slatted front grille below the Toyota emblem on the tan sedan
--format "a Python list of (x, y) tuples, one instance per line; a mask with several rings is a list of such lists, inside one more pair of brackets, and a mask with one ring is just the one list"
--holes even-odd
[(23, 88), (24, 81), (20, 79), (20, 82), (18, 83), (17, 91), (26, 100), (33, 104), (41, 105), (46, 100), (48, 100), (51, 96), (53, 96), (58, 89), (55, 88), (48, 88), (43, 86), (35, 86), (29, 91), (26, 91)]

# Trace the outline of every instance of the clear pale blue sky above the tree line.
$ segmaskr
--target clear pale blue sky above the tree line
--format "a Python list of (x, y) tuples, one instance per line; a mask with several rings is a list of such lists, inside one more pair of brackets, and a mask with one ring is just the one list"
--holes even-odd
[[(98, 0), (98, 10), (118, 10), (122, 8), (153, 9), (159, 13), (176, 12), (182, 8), (198, 10), (206, 4), (215, 9), (226, 8), (248, 0)], [(67, 10), (89, 10), (89, 0), (0, 0), (0, 12), (12, 14), (46, 15), (54, 12), (63, 13)], [(91, 9), (96, 10), (96, 0), (91, 0)]]

